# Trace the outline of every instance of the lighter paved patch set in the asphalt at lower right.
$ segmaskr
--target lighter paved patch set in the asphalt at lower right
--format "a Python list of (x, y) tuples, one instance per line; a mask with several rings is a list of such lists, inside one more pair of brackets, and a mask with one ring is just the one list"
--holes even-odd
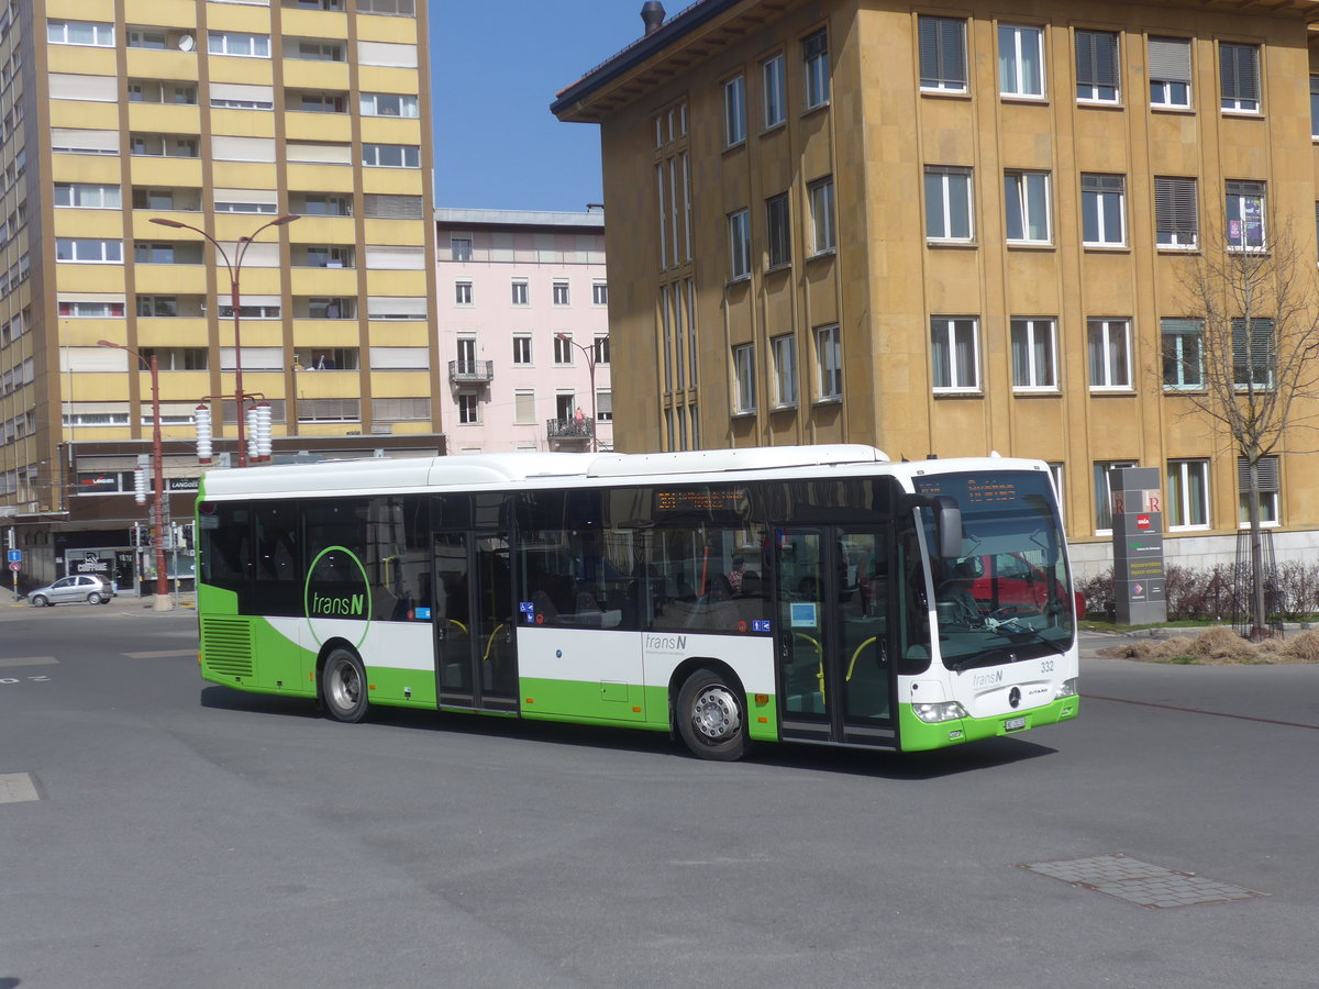
[(1026, 862), (1020, 868), (1148, 907), (1227, 903), (1233, 899), (1269, 895), (1206, 880), (1203, 876), (1165, 869), (1162, 865), (1129, 858), (1120, 852), (1060, 862)]

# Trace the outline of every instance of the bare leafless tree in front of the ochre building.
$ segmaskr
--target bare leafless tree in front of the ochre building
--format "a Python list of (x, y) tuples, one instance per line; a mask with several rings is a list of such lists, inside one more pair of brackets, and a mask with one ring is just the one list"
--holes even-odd
[(1186, 258), (1187, 332), (1163, 334), (1162, 373), (1191, 406), (1187, 414), (1212, 419), (1248, 468), (1250, 636), (1258, 638), (1268, 634), (1260, 462), (1316, 414), (1319, 269), (1312, 241), (1265, 210), (1262, 187), (1236, 199), (1229, 189), (1228, 214)]

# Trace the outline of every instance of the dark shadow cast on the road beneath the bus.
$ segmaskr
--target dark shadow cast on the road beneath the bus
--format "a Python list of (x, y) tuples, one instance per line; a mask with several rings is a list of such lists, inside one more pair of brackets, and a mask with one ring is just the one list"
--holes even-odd
[[(281, 698), (269, 694), (244, 694), (228, 687), (202, 690), (202, 707), (218, 711), (244, 711), (255, 715), (281, 715), (321, 719), (315, 703), (306, 698)], [(367, 725), (410, 728), (446, 734), (488, 737), (587, 749), (608, 749), (675, 757), (698, 762), (681, 741), (665, 732), (583, 725), (562, 721), (539, 721), (521, 717), (480, 716), (455, 711), (418, 711), (413, 708), (373, 705)], [(1006, 766), (1013, 762), (1051, 756), (1047, 745), (1025, 737), (987, 738), (954, 749), (935, 752), (884, 752), (842, 749), (794, 742), (761, 742), (743, 760), (747, 765), (845, 773), (877, 779), (936, 779), (977, 769)]]

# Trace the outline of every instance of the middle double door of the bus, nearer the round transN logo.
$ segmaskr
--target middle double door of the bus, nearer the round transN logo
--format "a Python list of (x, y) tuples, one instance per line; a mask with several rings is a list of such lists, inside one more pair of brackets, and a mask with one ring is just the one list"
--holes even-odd
[(435, 686), (441, 707), (517, 711), (508, 539), (435, 534)]

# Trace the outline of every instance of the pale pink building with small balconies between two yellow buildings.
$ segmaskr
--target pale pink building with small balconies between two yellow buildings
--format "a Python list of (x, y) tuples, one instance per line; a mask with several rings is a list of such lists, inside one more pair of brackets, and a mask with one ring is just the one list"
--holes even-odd
[(450, 452), (613, 448), (604, 212), (435, 210)]

